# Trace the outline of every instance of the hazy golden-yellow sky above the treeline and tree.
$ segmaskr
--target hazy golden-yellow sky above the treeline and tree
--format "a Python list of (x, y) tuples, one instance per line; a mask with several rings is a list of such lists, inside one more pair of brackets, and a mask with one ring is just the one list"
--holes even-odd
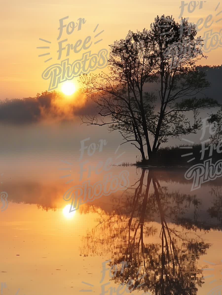
[[(198, 35), (203, 37), (203, 33), (210, 29), (213, 32), (219, 32), (222, 21), (217, 23), (216, 21), (221, 18), (222, 14), (216, 16), (216, 13), (220, 12), (222, 4), (215, 12), (217, 4), (218, 0), (206, 1), (202, 9), (197, 6), (193, 13), (188, 13), (188, 6), (185, 6), (183, 17), (189, 17), (189, 21), (196, 22), (200, 17), (205, 20), (208, 14), (212, 14), (213, 24), (208, 29), (203, 28)], [(41, 93), (48, 89), (49, 80), (42, 79), (42, 72), (49, 65), (62, 60), (57, 61), (56, 53), (59, 19), (69, 16), (68, 20), (64, 21), (68, 24), (70, 21), (76, 22), (80, 17), (85, 18), (86, 23), (83, 24), (81, 30), (75, 29), (71, 35), (66, 35), (64, 31), (60, 38), (62, 40), (68, 36), (67, 43), (73, 44), (78, 39), (84, 40), (88, 35), (93, 38), (93, 30), (99, 24), (96, 32), (104, 30), (101, 34), (103, 40), (90, 47), (92, 53), (98, 53), (102, 48), (108, 50), (109, 44), (112, 44), (114, 40), (124, 38), (129, 30), (141, 31), (144, 27), (149, 29), (150, 23), (157, 15), (172, 14), (175, 20), (179, 21), (180, 5), (181, 1), (175, 0), (5, 1), (0, 12), (2, 68), (0, 99), (33, 97), (37, 92)], [(41, 53), (46, 51), (36, 47), (47, 45), (43, 44), (44, 42), (39, 38), (51, 41), (50, 56), (53, 59), (48, 63), (44, 63), (45, 57), (38, 57), (40, 50), (42, 50)], [(74, 62), (79, 59), (85, 51), (72, 52), (69, 56), (70, 61)], [(212, 50), (208, 53), (208, 59), (202, 60), (201, 64), (221, 65), (221, 52), (221, 47)], [(75, 80), (78, 86), (77, 78)]]

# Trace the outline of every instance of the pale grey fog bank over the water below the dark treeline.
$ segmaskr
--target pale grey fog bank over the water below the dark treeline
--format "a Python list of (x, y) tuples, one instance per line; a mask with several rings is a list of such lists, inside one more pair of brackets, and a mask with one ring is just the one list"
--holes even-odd
[[(211, 110), (201, 112), (200, 117), (202, 119), (206, 118), (208, 113), (211, 113)], [(192, 114), (190, 114), (191, 116)], [(79, 119), (73, 123), (44, 122), (19, 126), (0, 124), (1, 159), (4, 160), (6, 155), (18, 157), (24, 154), (45, 155), (48, 157), (63, 154), (80, 155), (80, 141), (88, 137), (90, 140), (86, 141), (85, 145), (90, 145), (93, 142), (98, 144), (99, 140), (105, 139), (107, 145), (100, 154), (110, 154), (124, 142), (119, 132), (109, 133), (107, 125), (86, 126), (84, 124), (80, 125), (80, 123)], [(197, 134), (190, 134), (184, 136), (184, 138), (199, 143), (201, 135), (202, 131), (200, 130)], [(204, 139), (208, 138), (209, 129), (206, 130)], [(169, 141), (161, 146), (175, 146), (185, 143), (182, 137), (179, 139), (169, 138)], [(127, 158), (124, 155), (124, 160), (129, 162), (134, 162), (136, 155), (139, 155), (139, 150), (130, 142), (122, 144), (121, 150), (126, 151)]]

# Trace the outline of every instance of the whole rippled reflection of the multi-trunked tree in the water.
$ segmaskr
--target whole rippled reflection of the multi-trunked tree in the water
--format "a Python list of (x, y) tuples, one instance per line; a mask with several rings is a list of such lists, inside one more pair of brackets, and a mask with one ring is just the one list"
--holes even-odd
[[(133, 196), (128, 196), (111, 216), (101, 215), (97, 229), (85, 238), (82, 253), (107, 251), (114, 264), (126, 261), (128, 267), (123, 273), (116, 273), (115, 282), (127, 283), (132, 279), (138, 289), (156, 295), (196, 294), (203, 283), (198, 260), (209, 245), (195, 233), (196, 227), (193, 230), (190, 226), (186, 231), (177, 223), (178, 216), (185, 212), (185, 204), (193, 204), (197, 210), (200, 202), (195, 196), (169, 194), (152, 172), (145, 183), (144, 180), (145, 169), (135, 183)], [(158, 223), (152, 222), (156, 214)], [(160, 239), (156, 237), (157, 231)]]

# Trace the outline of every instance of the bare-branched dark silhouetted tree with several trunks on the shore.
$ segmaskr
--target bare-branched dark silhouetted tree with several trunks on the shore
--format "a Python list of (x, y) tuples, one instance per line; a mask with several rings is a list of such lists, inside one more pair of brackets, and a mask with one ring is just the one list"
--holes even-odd
[[(172, 35), (170, 38), (166, 30)], [(80, 77), (86, 95), (96, 102), (100, 116), (89, 115), (83, 122), (108, 124), (110, 131), (118, 130), (124, 143), (131, 142), (140, 150), (143, 161), (146, 145), (152, 162), (160, 144), (167, 142), (170, 136), (195, 133), (200, 128), (198, 109), (217, 105), (208, 97), (196, 97), (210, 86), (205, 73), (195, 67), (195, 62), (204, 57), (203, 40), (195, 38), (196, 34), (195, 25), (189, 28), (184, 21), (181, 26), (163, 15), (155, 18), (149, 31), (129, 31), (125, 39), (115, 41), (110, 45), (109, 73)], [(180, 52), (177, 50), (175, 55), (179, 44)], [(188, 44), (191, 51), (187, 50)], [(194, 50), (196, 45), (198, 50)], [(150, 88), (154, 82), (159, 87), (158, 100), (154, 92), (144, 91), (145, 85)], [(185, 112), (190, 111), (193, 123), (185, 116)], [(106, 117), (110, 118), (109, 122)]]

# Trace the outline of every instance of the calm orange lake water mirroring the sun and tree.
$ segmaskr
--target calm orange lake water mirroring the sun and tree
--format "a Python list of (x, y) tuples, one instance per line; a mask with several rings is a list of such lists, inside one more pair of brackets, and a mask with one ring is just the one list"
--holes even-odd
[[(77, 180), (65, 184), (47, 169), (41, 177), (15, 172), (4, 179), (9, 203), (0, 212), (2, 294), (222, 290), (220, 178), (190, 191), (184, 171), (112, 169), (128, 171), (129, 186), (74, 213), (63, 194)], [(90, 181), (102, 179), (93, 175)]]

